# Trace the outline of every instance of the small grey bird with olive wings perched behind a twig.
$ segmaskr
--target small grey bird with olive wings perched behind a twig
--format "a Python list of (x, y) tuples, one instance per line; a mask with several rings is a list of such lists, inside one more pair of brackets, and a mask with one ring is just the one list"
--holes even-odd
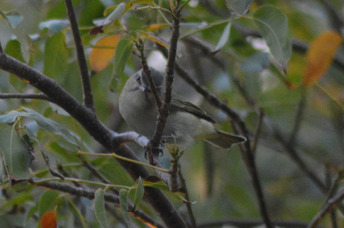
[[(164, 76), (153, 68), (150, 70), (158, 94), (163, 99)], [(127, 80), (119, 96), (119, 112), (129, 127), (147, 138), (152, 137), (158, 111), (142, 69)], [(233, 144), (246, 141), (244, 137), (215, 129), (214, 123), (205, 111), (173, 93), (163, 137), (172, 139), (170, 142), (175, 137), (180, 148), (194, 139), (205, 140), (221, 149), (229, 149)]]

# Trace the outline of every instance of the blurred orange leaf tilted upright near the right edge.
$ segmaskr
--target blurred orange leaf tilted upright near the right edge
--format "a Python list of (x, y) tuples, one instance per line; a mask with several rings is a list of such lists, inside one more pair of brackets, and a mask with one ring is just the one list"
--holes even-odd
[(342, 41), (343, 38), (340, 34), (327, 31), (311, 43), (306, 54), (306, 70), (303, 78), (305, 85), (312, 85), (325, 74)]

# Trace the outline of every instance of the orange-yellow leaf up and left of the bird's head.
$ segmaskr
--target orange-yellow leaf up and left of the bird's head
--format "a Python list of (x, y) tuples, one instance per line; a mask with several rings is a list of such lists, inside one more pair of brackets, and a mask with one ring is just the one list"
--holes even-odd
[(92, 48), (89, 54), (92, 70), (99, 72), (109, 64), (115, 55), (116, 46), (121, 36), (122, 34), (106, 36), (97, 41), (96, 47)]

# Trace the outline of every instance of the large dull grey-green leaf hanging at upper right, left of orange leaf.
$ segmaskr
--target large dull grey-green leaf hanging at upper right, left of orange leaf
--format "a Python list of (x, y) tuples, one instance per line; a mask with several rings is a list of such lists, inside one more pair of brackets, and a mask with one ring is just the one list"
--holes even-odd
[(284, 68), (291, 56), (287, 17), (275, 7), (264, 6), (253, 14), (253, 19), (271, 55)]

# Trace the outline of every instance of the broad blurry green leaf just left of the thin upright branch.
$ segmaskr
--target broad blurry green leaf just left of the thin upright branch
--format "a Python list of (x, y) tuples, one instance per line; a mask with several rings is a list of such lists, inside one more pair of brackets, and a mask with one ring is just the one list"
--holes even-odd
[(62, 83), (68, 69), (68, 52), (65, 35), (61, 32), (48, 38), (44, 49), (43, 74)]

